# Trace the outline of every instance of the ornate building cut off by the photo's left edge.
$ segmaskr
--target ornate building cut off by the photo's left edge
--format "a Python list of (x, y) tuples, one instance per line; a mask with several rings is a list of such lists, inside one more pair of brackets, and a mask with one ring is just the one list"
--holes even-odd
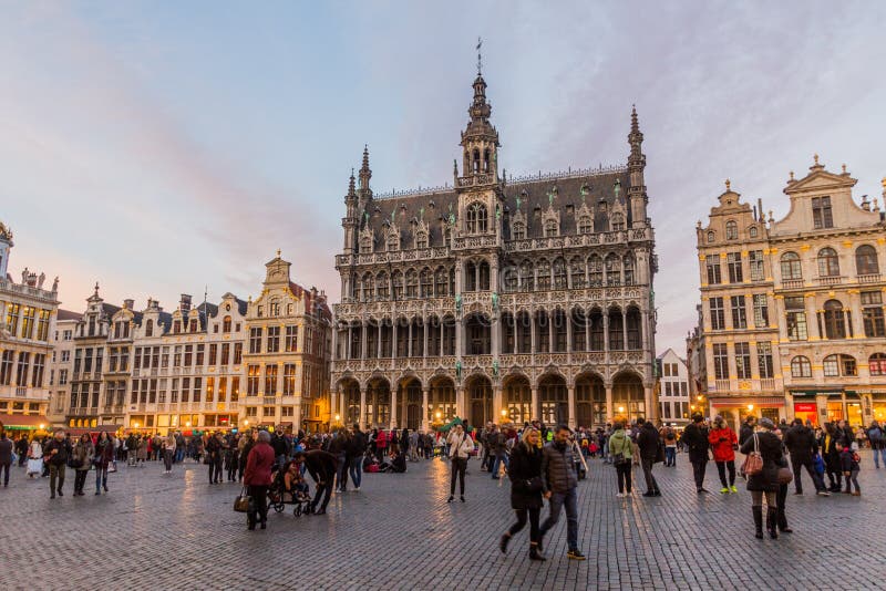
[(12, 230), (0, 222), (0, 423), (7, 428), (47, 424), (49, 365), (59, 309), (59, 280), (27, 268), (21, 282), (8, 273)]

